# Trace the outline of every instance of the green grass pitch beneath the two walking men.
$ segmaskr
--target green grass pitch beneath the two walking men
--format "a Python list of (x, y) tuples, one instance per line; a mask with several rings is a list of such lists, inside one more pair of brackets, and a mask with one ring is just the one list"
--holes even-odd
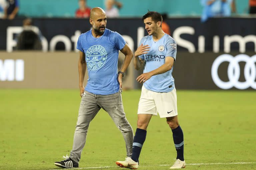
[[(177, 90), (185, 160), (193, 163), (256, 162), (255, 91)], [(140, 91), (124, 91), (127, 119), (136, 129)], [(69, 154), (80, 103), (78, 90), (0, 89), (0, 170), (60, 169)], [(140, 156), (141, 170), (169, 169), (176, 151), (165, 119), (152, 117)], [(125, 143), (101, 110), (89, 127), (80, 167), (120, 169)], [(100, 168), (99, 168), (100, 169)], [(186, 169), (256, 169), (256, 164), (187, 165)]]

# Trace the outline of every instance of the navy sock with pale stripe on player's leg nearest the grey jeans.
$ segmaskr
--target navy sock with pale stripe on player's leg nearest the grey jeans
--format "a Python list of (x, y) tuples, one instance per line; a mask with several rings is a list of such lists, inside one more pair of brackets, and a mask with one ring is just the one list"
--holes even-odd
[(132, 160), (135, 162), (139, 162), (139, 156), (140, 156), (140, 151), (142, 148), (142, 145), (146, 139), (147, 135), (147, 130), (144, 129), (136, 129), (135, 136), (133, 139), (133, 144), (132, 144)]

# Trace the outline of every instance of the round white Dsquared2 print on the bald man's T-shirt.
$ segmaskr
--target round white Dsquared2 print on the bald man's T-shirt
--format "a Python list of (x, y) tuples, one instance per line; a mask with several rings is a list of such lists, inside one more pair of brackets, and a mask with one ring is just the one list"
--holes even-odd
[(101, 45), (93, 45), (86, 51), (86, 63), (90, 70), (102, 67), (107, 59), (107, 51)]

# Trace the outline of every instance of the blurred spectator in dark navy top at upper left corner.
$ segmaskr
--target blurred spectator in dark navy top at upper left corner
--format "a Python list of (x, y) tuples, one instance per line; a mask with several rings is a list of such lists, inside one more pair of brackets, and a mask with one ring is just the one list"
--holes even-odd
[(7, 6), (4, 9), (4, 19), (14, 19), (19, 11), (19, 0), (7, 0)]

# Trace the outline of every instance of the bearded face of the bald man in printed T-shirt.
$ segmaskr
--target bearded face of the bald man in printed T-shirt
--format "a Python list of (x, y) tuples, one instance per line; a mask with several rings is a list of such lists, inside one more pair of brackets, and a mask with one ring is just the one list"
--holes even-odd
[(107, 17), (105, 13), (96, 15), (92, 22), (92, 28), (96, 34), (103, 34), (107, 25)]

